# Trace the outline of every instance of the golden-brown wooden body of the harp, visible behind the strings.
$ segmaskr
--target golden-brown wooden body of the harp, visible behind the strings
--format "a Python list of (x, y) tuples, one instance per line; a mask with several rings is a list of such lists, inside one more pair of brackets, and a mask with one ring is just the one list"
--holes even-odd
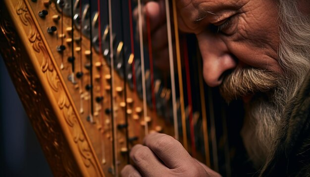
[[(83, 89), (85, 83), (90, 82), (90, 73), (84, 69), (87, 76), (83, 77), (84, 85), (80, 83), (73, 85), (67, 80), (71, 68), (66, 58), (70, 56), (70, 52), (64, 52), (61, 56), (55, 49), (61, 38), (46, 32), (51, 24), (57, 27), (60, 25), (55, 24), (51, 18), (53, 15), (59, 15), (54, 4), (47, 8), (43, 3), (34, 3), (31, 0), (1, 0), (0, 3), (0, 52), (55, 176), (97, 177), (115, 174), (115, 172), (108, 173), (115, 168), (112, 153), (113, 138), (117, 141), (115, 150), (118, 159), (115, 164), (119, 169), (118, 174), (127, 164), (127, 155), (121, 153), (126, 148), (126, 132), (117, 130), (114, 136), (110, 124), (112, 118), (103, 113), (106, 108), (110, 108), (111, 91), (116, 95), (114, 107), (116, 123), (124, 124), (124, 115), (127, 114), (128, 136), (137, 136), (136, 143), (141, 143), (143, 140), (145, 124), (149, 125), (150, 131), (173, 135), (173, 126), (157, 118), (152, 109), (148, 110), (150, 122), (144, 123), (141, 114), (143, 110), (140, 109), (143, 107), (142, 101), (138, 94), (129, 86), (127, 86), (127, 98), (124, 98), (124, 94), (117, 93), (124, 85), (117, 74), (114, 79), (116, 88), (110, 88), (107, 79), (110, 68), (104, 60), (102, 70), (96, 69), (96, 66), (93, 70), (94, 94), (100, 95), (100, 87), (103, 87), (104, 101), (102, 105), (94, 101), (94, 123), (87, 121), (90, 95)], [(42, 8), (49, 10), (49, 18), (37, 17), (38, 11)], [(63, 20), (64, 29), (71, 26), (70, 18), (66, 17)], [(78, 36), (77, 30), (74, 35)], [(66, 33), (65, 36), (66, 39), (70, 39), (69, 34)], [(86, 54), (84, 55), (89, 51), (89, 40), (82, 38), (82, 50), (76, 50), (75, 54), (80, 56), (82, 52), (85, 61), (89, 61)], [(59, 67), (61, 57), (65, 58), (64, 69)], [(93, 58), (94, 65), (96, 62), (101, 62), (101, 57), (95, 51)], [(76, 68), (80, 68), (79, 62)], [(98, 78), (96, 76), (100, 76), (100, 71), (103, 71), (103, 76)], [(133, 102), (128, 103), (127, 110), (124, 110), (124, 102), (128, 98)], [(81, 101), (84, 105), (83, 111), (80, 111)], [(133, 145), (130, 143), (129, 148)]]

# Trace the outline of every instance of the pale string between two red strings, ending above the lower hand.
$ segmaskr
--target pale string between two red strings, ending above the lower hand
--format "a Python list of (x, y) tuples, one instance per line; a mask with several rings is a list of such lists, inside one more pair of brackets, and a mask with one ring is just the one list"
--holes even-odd
[(140, 41), (140, 53), (141, 53), (141, 75), (142, 75), (142, 94), (143, 94), (143, 116), (144, 116), (144, 130), (145, 135), (149, 133), (148, 128), (148, 110), (147, 110), (147, 93), (146, 93), (146, 81), (145, 81), (145, 64), (144, 64), (144, 49), (143, 49), (143, 24), (142, 24), (142, 4), (141, 0), (138, 0), (138, 16), (139, 16), (139, 41)]

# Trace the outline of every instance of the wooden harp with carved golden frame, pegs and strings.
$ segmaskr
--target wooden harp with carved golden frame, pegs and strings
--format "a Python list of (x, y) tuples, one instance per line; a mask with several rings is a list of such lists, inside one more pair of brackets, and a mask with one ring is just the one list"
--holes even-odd
[(197, 43), (165, 0), (169, 70), (158, 69), (145, 3), (0, 0), (0, 52), (55, 176), (119, 176), (151, 132), (229, 176), (225, 107), (203, 82)]

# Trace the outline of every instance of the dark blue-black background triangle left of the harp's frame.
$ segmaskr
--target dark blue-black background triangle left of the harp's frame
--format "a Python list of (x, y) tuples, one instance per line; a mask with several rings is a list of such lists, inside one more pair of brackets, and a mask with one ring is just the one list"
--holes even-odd
[(0, 177), (52, 177), (1, 55)]

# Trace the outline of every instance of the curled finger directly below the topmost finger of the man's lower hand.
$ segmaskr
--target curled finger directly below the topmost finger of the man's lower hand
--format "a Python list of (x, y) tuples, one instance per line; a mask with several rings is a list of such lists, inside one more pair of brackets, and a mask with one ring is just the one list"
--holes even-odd
[(135, 145), (130, 151), (130, 158), (142, 176), (158, 177), (168, 173), (168, 168), (158, 160), (147, 146)]

